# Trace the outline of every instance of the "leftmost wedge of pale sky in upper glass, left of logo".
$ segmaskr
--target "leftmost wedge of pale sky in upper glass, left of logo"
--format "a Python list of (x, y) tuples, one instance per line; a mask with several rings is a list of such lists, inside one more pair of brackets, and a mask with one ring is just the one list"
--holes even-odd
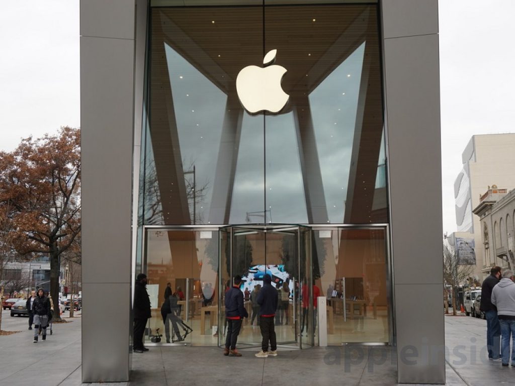
[(227, 95), (167, 44), (165, 52), (190, 217), (206, 224)]

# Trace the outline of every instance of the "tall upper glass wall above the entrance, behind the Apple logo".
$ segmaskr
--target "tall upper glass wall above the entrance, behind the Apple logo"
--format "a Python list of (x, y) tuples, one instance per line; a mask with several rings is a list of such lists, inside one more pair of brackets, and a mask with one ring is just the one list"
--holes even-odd
[(376, 6), (264, 4), (152, 9), (145, 224), (387, 222)]

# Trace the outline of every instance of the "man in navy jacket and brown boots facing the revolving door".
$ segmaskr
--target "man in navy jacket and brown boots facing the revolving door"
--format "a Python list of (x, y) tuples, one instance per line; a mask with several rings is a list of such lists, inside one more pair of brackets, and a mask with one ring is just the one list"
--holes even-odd
[(243, 305), (243, 292), (239, 289), (242, 284), (242, 276), (234, 277), (234, 285), (226, 292), (225, 307), (227, 320), (227, 337), (224, 355), (230, 357), (241, 357), (242, 354), (236, 350), (239, 330), (242, 328), (243, 318), (249, 314)]

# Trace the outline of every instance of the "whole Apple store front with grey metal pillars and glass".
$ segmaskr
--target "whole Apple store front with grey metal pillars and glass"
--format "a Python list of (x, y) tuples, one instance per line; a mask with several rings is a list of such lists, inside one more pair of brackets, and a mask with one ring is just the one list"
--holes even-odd
[[(268, 273), (281, 347), (444, 383), (438, 82), (436, 0), (82, 1), (82, 380), (128, 380), (138, 273), (178, 355), (224, 345), (235, 275), (259, 346)], [(156, 342), (168, 287), (185, 328)]]

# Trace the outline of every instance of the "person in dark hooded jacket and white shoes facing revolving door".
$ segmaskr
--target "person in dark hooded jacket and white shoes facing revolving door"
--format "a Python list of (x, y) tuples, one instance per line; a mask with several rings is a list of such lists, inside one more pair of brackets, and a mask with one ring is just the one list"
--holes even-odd
[[(261, 342), (261, 351), (255, 354), (258, 358), (266, 358), (269, 355), (277, 357), (277, 340), (274, 319), (277, 312), (278, 292), (272, 287), (272, 278), (269, 274), (263, 277), (263, 288), (258, 294), (258, 304), (260, 305), (260, 328), (263, 340)], [(268, 351), (268, 342), (270, 342), (270, 352)]]

